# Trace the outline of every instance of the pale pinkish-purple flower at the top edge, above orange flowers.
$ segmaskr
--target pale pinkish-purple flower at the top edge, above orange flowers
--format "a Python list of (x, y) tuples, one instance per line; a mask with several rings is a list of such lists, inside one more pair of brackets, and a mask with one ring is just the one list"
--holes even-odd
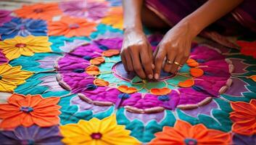
[(99, 20), (107, 13), (107, 1), (62, 1), (59, 3), (64, 14), (83, 17), (91, 20)]

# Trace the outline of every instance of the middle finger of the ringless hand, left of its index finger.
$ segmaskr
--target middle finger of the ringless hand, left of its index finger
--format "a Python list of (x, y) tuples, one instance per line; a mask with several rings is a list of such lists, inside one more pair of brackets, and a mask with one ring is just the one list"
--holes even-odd
[(144, 70), (141, 66), (141, 61), (139, 59), (139, 53), (133, 51), (134, 49), (128, 49), (129, 54), (131, 56), (131, 59), (133, 60), (133, 70), (136, 72), (137, 75), (139, 75), (140, 78), (146, 78), (146, 75), (144, 73)]

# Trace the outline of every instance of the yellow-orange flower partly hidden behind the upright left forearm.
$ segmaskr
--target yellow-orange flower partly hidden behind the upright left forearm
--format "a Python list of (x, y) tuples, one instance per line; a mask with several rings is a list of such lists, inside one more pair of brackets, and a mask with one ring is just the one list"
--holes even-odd
[(123, 29), (123, 9), (122, 7), (113, 7), (107, 17), (102, 19), (102, 23), (112, 25), (113, 28)]

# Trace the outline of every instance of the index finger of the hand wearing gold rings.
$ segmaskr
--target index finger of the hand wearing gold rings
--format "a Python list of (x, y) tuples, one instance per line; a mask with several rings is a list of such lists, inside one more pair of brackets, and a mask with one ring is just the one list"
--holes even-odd
[[(161, 46), (160, 46), (161, 47)], [(166, 52), (163, 48), (157, 51), (156, 57), (154, 58), (154, 78), (157, 80), (160, 78), (160, 72), (162, 70), (162, 62), (165, 59)]]

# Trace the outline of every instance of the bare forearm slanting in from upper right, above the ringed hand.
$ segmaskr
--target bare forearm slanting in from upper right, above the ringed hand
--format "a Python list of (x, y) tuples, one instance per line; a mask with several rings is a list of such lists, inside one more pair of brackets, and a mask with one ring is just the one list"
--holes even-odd
[(187, 22), (193, 36), (197, 36), (212, 22), (220, 19), (232, 9), (241, 4), (243, 0), (209, 0), (196, 11), (189, 14), (181, 22)]

